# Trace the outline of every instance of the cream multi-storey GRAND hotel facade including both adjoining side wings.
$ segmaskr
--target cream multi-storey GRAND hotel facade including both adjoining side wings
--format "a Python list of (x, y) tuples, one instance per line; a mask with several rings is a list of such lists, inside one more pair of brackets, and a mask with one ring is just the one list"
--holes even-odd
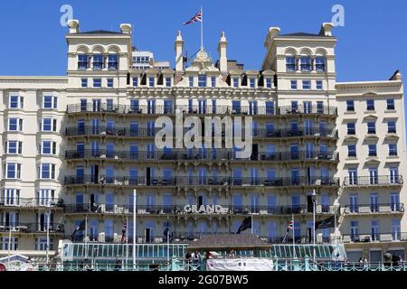
[[(172, 242), (235, 233), (252, 216), (253, 233), (276, 244), (294, 214), (296, 242), (309, 244), (316, 191), (317, 220), (337, 224), (317, 230), (317, 243), (337, 238), (356, 261), (388, 251), (404, 259), (402, 75), (336, 82), (332, 24), (317, 34), (270, 28), (259, 70), (228, 60), (224, 33), (216, 63), (205, 51), (185, 63), (178, 33), (174, 70), (136, 70), (129, 24), (118, 33), (69, 28), (66, 76), (0, 77), (0, 256), (9, 244), (45, 256), (47, 210), (52, 255), (83, 219), (86, 234), (73, 241), (120, 242), (127, 219), (132, 236), (137, 189), (138, 243), (166, 242), (166, 227)], [(155, 120), (175, 119), (176, 108), (185, 117), (251, 116), (251, 157), (157, 150)]]

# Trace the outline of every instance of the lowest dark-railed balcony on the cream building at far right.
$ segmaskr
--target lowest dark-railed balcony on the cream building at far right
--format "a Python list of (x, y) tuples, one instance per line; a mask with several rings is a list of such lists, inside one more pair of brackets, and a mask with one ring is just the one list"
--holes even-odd
[(407, 241), (407, 233), (343, 234), (342, 241), (344, 243), (405, 242)]

